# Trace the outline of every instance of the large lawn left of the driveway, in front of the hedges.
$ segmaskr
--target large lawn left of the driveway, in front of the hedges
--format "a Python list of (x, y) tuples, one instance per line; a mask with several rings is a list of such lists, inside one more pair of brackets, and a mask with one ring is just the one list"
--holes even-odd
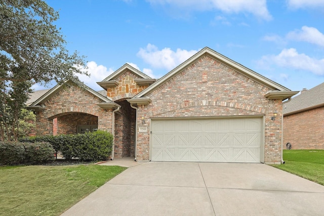
[(60, 215), (125, 169), (100, 165), (0, 167), (0, 215)]

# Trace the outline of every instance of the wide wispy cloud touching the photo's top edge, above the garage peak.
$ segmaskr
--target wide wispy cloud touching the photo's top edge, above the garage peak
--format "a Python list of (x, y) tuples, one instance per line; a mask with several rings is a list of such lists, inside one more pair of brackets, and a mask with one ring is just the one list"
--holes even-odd
[(147, 0), (147, 2), (189, 12), (220, 10), (228, 14), (251, 13), (260, 19), (272, 19), (267, 9), (266, 0)]

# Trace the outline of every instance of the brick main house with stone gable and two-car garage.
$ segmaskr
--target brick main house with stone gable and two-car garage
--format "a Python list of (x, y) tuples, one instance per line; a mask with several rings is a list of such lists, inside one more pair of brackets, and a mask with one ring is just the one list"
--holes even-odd
[(209, 48), (158, 80), (125, 64), (97, 82), (106, 96), (68, 82), (30, 105), (37, 134), (55, 118), (58, 134), (102, 129), (112, 157), (137, 161), (280, 163), (282, 101), (297, 94)]

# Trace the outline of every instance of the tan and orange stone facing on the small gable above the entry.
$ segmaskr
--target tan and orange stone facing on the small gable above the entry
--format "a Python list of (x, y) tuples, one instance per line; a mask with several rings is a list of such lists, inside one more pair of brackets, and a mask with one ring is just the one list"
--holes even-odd
[(107, 96), (113, 101), (134, 97), (147, 88), (147, 86), (140, 86), (135, 82), (135, 79), (141, 78), (130, 71), (124, 72), (116, 79), (119, 85), (107, 89)]

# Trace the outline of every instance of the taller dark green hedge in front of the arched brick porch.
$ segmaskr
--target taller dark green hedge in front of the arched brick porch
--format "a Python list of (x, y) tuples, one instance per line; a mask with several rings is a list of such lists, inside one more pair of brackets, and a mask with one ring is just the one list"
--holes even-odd
[(21, 139), (20, 142), (48, 142), (63, 157), (99, 161), (108, 158), (112, 151), (113, 136), (104, 131), (77, 135), (36, 136)]

